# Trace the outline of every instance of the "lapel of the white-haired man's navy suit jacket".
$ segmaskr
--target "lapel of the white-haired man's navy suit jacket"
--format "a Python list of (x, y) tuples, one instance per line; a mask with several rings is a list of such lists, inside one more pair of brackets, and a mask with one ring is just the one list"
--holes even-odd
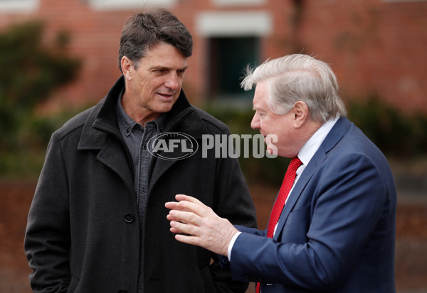
[(288, 219), (290, 211), (292, 211), (295, 203), (300, 198), (305, 185), (307, 185), (307, 183), (310, 181), (310, 178), (315, 174), (320, 165), (322, 165), (322, 162), (325, 161), (327, 153), (329, 153), (330, 150), (332, 150), (332, 148), (337, 145), (339, 140), (342, 139), (344, 134), (347, 133), (351, 126), (352, 123), (347, 118), (339, 118), (337, 123), (335, 123), (335, 125), (332, 127), (330, 133), (327, 134), (325, 140), (323, 140), (322, 145), (320, 145), (320, 148), (312, 157), (307, 167), (305, 167), (305, 170), (302, 172), (300, 179), (298, 179), (295, 187), (292, 189), (292, 196), (289, 197), (285, 207), (283, 208), (282, 215), (280, 216), (276, 230), (278, 233), (275, 233), (274, 236), (276, 240), (280, 235), (280, 231), (283, 230), (283, 226)]

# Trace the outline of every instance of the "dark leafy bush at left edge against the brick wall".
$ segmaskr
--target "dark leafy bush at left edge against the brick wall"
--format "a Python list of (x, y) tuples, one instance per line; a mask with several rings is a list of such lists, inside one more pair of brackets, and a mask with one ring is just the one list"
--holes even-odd
[(60, 31), (45, 45), (40, 21), (0, 33), (0, 150), (15, 150), (36, 105), (77, 76), (81, 62), (66, 54), (68, 40)]

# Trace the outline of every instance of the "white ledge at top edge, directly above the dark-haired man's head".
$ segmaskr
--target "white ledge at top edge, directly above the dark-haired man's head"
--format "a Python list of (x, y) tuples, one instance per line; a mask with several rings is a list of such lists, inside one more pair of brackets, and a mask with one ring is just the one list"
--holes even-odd
[(171, 7), (177, 0), (87, 0), (95, 10), (147, 9), (152, 7)]

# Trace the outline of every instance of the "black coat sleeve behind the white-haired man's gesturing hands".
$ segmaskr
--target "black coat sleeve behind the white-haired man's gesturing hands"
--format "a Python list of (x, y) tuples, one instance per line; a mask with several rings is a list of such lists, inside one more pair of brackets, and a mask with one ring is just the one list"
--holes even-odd
[[(235, 225), (256, 227), (255, 206), (237, 159), (223, 158), (216, 170), (214, 211)], [(246, 292), (248, 282), (232, 280), (229, 267), (221, 268), (217, 255), (211, 264), (217, 292)]]

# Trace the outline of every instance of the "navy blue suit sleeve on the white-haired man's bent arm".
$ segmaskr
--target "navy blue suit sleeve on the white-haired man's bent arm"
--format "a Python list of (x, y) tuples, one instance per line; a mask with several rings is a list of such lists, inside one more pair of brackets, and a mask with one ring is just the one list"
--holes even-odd
[(327, 291), (349, 275), (380, 221), (389, 187), (364, 155), (342, 157), (317, 172), (300, 196), (311, 198), (307, 242), (241, 233), (231, 253), (236, 280)]

